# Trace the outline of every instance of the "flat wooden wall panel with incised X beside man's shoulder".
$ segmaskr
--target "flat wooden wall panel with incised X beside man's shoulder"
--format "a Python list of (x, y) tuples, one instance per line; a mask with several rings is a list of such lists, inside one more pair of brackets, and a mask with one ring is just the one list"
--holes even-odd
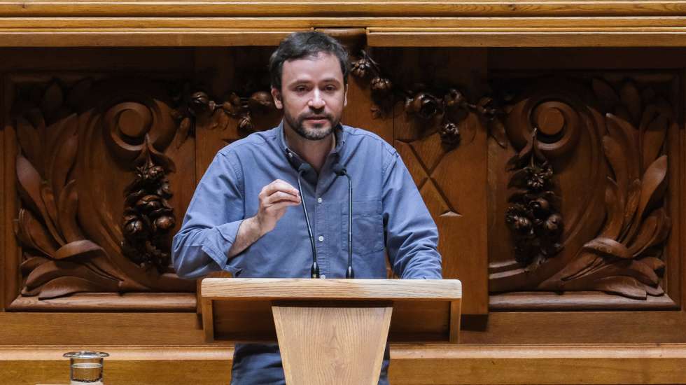
[[(436, 111), (447, 90), (461, 92), (468, 103), (486, 93), (486, 50), (393, 50), (393, 84), (399, 94), (412, 95), (416, 103), (426, 96)], [(469, 59), (463, 59), (469, 57)], [(426, 90), (414, 90), (423, 84)], [(408, 97), (409, 98), (409, 97)], [(465, 314), (488, 311), (486, 226), (486, 139), (484, 119), (470, 110), (454, 109), (456, 118), (445, 113), (458, 130), (458, 142), (447, 144), (441, 136), (448, 118), (410, 113), (407, 102), (397, 103), (393, 120), (394, 146), (409, 169), (440, 232), (443, 277), (464, 283)]]

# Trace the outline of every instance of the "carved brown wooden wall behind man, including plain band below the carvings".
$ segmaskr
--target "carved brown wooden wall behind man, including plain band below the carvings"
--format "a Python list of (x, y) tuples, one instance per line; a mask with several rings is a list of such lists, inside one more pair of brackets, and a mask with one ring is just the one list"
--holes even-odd
[[(686, 50), (355, 36), (344, 123), (393, 144), (412, 173), (444, 276), (464, 284), (463, 342), (686, 343)], [(216, 151), (278, 123), (271, 51), (0, 50), (0, 346), (202, 346), (170, 236)], [(77, 321), (98, 331), (59, 337)]]

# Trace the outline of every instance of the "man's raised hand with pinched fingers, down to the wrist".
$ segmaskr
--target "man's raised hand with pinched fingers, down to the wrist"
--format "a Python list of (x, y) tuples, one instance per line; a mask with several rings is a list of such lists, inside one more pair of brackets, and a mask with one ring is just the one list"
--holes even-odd
[(260, 191), (260, 209), (255, 215), (260, 227), (260, 236), (274, 230), (276, 222), (281, 219), (289, 206), (300, 204), (300, 193), (290, 184), (276, 179)]

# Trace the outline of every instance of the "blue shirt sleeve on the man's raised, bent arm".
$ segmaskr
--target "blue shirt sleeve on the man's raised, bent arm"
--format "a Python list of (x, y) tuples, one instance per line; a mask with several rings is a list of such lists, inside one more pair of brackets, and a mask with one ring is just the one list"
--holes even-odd
[(172, 260), (181, 278), (193, 279), (222, 269), (234, 275), (240, 271), (237, 258), (228, 260), (244, 219), (243, 174), (232, 156), (217, 153), (174, 235)]

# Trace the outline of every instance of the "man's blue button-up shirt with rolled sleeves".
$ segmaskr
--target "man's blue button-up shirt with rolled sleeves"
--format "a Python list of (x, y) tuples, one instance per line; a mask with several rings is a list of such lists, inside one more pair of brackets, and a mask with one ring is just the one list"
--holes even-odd
[[(398, 152), (376, 134), (345, 125), (317, 175), (304, 174), (302, 199), (317, 248), (322, 278), (344, 278), (348, 265), (348, 181), (353, 183), (353, 269), (356, 278), (385, 278), (386, 253), (404, 279), (440, 279), (438, 232)], [(303, 160), (288, 146), (283, 123), (255, 132), (217, 153), (200, 180), (174, 236), (172, 258), (179, 276), (196, 278), (220, 269), (234, 276), (306, 278), (311, 244), (300, 206), (289, 207), (276, 227), (228, 259), (241, 221), (255, 216), (260, 190), (275, 179), (297, 188)], [(386, 383), (386, 367), (380, 383)], [(284, 384), (278, 347), (237, 344), (234, 384)]]

